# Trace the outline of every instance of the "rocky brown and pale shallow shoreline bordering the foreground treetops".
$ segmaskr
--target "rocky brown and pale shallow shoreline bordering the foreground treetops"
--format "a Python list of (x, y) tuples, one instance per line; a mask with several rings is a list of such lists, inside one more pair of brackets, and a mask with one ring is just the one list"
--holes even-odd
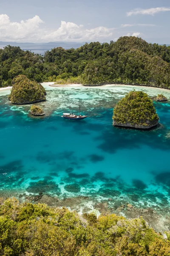
[(71, 212), (76, 211), (79, 215), (83, 213), (94, 212), (97, 216), (106, 214), (116, 214), (127, 219), (139, 218), (142, 216), (147, 221), (149, 227), (153, 227), (157, 232), (169, 230), (170, 215), (169, 208), (164, 207), (164, 213), (157, 207), (149, 207), (145, 205), (135, 205), (125, 199), (119, 198), (96, 198), (89, 195), (77, 195), (61, 198), (58, 195), (50, 195), (49, 193), (29, 193), (24, 190), (0, 191), (0, 196), (4, 199), (16, 198), (20, 203), (27, 202), (32, 204), (46, 204), (49, 207), (60, 208), (65, 207)]

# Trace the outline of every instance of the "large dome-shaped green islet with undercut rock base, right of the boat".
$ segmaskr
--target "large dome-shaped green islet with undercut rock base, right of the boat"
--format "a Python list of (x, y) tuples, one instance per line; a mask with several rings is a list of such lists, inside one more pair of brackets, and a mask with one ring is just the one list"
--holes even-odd
[(147, 93), (131, 91), (113, 110), (113, 125), (148, 129), (158, 124), (159, 116)]

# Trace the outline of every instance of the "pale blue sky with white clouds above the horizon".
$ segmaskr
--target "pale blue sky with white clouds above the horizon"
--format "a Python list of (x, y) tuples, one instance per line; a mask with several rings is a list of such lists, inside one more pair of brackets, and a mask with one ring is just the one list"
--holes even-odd
[(0, 0), (0, 41), (170, 44), (170, 0)]

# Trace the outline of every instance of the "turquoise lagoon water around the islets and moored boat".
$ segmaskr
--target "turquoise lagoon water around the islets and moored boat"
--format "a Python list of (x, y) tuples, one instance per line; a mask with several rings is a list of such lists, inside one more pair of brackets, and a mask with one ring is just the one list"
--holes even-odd
[[(85, 195), (136, 206), (169, 207), (170, 102), (154, 102), (160, 125), (150, 131), (112, 126), (113, 106), (133, 86), (49, 87), (39, 103), (46, 115), (33, 117), (30, 105), (8, 102), (0, 91), (0, 193), (23, 191), (59, 198)], [(136, 88), (136, 87), (135, 87)], [(170, 91), (137, 87), (156, 96)], [(90, 118), (61, 118), (71, 102)]]

